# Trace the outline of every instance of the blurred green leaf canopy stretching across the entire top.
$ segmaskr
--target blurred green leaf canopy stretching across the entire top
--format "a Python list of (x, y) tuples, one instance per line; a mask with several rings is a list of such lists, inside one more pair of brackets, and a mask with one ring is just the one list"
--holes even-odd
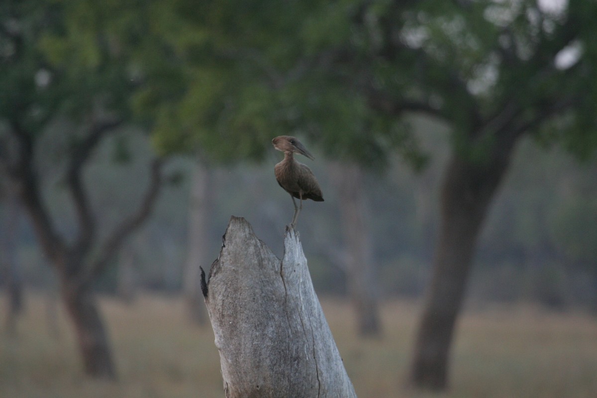
[[(513, 129), (590, 158), (597, 28), (587, 16), (596, 7), (9, 2), (2, 20), (27, 34), (17, 60), (5, 23), (0, 109), (9, 115), (14, 104), (35, 102), (21, 119), (39, 127), (57, 112), (80, 118), (100, 103), (147, 127), (164, 155), (199, 152), (224, 163), (261, 159), (272, 137), (298, 134), (329, 156), (374, 168), (396, 151), (421, 166), (401, 122), (411, 111), (442, 119), (454, 147), (476, 161)], [(578, 59), (558, 67), (575, 46)]]

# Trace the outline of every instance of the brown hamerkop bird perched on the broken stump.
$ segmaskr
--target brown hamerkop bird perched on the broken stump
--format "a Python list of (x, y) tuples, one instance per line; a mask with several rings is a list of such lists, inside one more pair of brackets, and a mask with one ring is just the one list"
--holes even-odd
[[(293, 153), (298, 152), (301, 155), (307, 156), (311, 160), (315, 160), (313, 155), (300, 143), (296, 138), (290, 135), (280, 135), (272, 140), (273, 147), (279, 151), (284, 152), (284, 160), (279, 162), (273, 169), (276, 174), (278, 184), (288, 193), (293, 199), (294, 215), (292, 226), (296, 225), (298, 213), (303, 208), (303, 199), (311, 199), (316, 202), (323, 202), (324, 197), (321, 194), (321, 188), (315, 175), (303, 163), (294, 160)], [(297, 206), (294, 198), (300, 200), (300, 205)]]

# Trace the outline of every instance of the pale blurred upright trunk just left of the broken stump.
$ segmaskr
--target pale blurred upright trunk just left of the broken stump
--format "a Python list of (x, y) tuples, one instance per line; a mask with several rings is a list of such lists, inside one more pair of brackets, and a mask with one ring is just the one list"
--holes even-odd
[[(189, 205), (189, 252), (184, 270), (184, 296), (190, 319), (198, 325), (207, 323), (201, 295), (201, 264), (207, 260), (207, 220), (211, 208), (211, 171), (197, 162), (193, 170)], [(208, 263), (207, 263), (208, 264)]]

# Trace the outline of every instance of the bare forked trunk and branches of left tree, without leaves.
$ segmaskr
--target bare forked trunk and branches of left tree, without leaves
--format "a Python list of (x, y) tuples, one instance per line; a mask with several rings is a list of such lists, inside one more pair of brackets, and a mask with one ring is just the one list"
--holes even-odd
[[(72, 199), (75, 229), (78, 230), (70, 239), (61, 235), (45, 204), (43, 184), (38, 175), (39, 159), (36, 159), (39, 152), (36, 146), (41, 135), (27, 131), (20, 123), (23, 118), (18, 115), (13, 115), (7, 128), (14, 140), (14, 159), (0, 161), (4, 165), (3, 171), (7, 172), (11, 184), (15, 186), (20, 202), (29, 213), (42, 251), (59, 274), (62, 300), (75, 326), (85, 371), (91, 377), (114, 379), (108, 338), (91, 286), (110, 264), (125, 239), (149, 217), (162, 186), (164, 160), (156, 158), (150, 162), (149, 186), (141, 203), (136, 211), (120, 217), (119, 223), (100, 242), (93, 201), (83, 174), (99, 143), (122, 124), (122, 119), (104, 119), (99, 117), (100, 113), (103, 112), (97, 112), (97, 115), (90, 112), (85, 116), (84, 119), (93, 121), (81, 125), (88, 130), (87, 134), (64, 153), (66, 167), (63, 181)], [(70, 230), (70, 226), (67, 229)]]

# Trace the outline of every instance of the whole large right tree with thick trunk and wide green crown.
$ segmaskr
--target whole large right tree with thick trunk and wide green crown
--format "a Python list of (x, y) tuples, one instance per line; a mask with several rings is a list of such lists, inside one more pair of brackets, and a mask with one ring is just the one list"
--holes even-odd
[[(203, 33), (184, 51), (204, 50), (190, 62), (202, 84), (180, 112), (209, 104), (195, 112), (196, 124), (230, 137), (231, 150), (254, 148), (236, 132), (259, 138), (282, 129), (336, 159), (383, 165), (398, 150), (418, 164), (402, 116), (424, 113), (450, 128), (433, 277), (411, 365), (414, 385), (445, 388), (476, 240), (516, 144), (532, 135), (584, 158), (597, 146), (595, 4), (204, 2), (196, 12), (177, 4)], [(208, 94), (198, 94), (206, 83)]]

